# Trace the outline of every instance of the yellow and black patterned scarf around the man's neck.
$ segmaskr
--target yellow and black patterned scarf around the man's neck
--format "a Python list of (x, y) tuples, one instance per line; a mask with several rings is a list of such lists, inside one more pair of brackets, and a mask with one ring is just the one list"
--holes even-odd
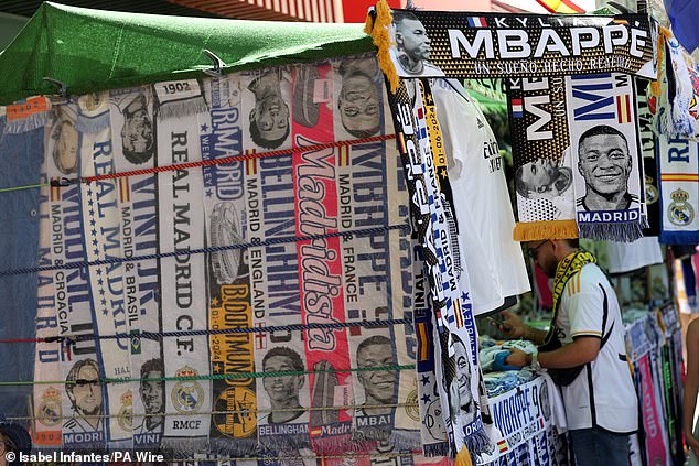
[[(540, 351), (552, 351), (562, 346), (562, 343), (558, 339), (556, 319), (558, 317), (558, 311), (560, 308), (560, 297), (566, 288), (566, 283), (576, 273), (580, 272), (583, 265), (588, 263), (595, 263), (596, 259), (588, 251), (576, 251), (564, 257), (556, 268), (556, 277), (553, 279), (553, 315), (551, 317), (551, 326), (549, 328), (544, 344), (539, 346)], [(567, 368), (567, 369), (549, 369), (549, 375), (553, 381), (559, 386), (570, 384), (583, 369), (584, 365)]]

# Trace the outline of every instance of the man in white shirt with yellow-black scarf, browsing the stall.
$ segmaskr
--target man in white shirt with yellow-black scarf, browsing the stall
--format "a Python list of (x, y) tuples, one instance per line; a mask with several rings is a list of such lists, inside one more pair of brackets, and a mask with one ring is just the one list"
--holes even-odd
[(568, 375), (561, 391), (578, 465), (627, 466), (628, 434), (638, 427), (638, 401), (614, 290), (594, 258), (578, 249), (577, 239), (528, 247), (536, 263), (556, 279), (552, 332), (531, 328), (508, 312), (498, 327), (512, 338), (546, 343), (549, 350), (528, 355), (513, 349), (506, 362), (548, 368), (551, 376)]

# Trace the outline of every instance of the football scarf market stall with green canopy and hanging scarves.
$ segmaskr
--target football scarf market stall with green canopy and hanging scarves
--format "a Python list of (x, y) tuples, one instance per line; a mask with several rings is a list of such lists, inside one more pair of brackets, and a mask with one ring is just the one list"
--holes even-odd
[[(356, 25), (45, 3), (0, 55), (0, 410), (37, 449), (568, 460), (558, 388), (531, 370), (483, 376), (503, 357), (483, 353), (476, 319), (530, 289), (519, 240), (637, 239), (660, 226), (655, 202), (671, 214), (662, 239), (695, 238), (692, 169), (659, 163), (659, 193), (646, 187), (636, 78), (657, 79), (652, 130), (687, 138), (673, 152), (668, 132), (658, 159), (697, 163), (693, 123), (658, 111), (674, 96), (656, 24), (388, 13), (370, 14), (373, 44)], [(432, 39), (430, 59), (406, 48), (405, 21)], [(463, 86), (485, 77), (504, 84)], [(599, 126), (627, 138), (623, 207), (585, 207), (600, 201), (573, 170)], [(557, 176), (533, 184), (536, 166)], [(673, 313), (628, 330), (657, 414), (645, 458), (684, 457)]]

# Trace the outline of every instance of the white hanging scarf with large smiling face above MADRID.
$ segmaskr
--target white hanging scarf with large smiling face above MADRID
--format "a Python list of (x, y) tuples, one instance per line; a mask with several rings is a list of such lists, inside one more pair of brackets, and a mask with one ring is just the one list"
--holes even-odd
[(619, 73), (566, 78), (576, 216), (583, 238), (633, 241), (647, 227), (635, 86)]

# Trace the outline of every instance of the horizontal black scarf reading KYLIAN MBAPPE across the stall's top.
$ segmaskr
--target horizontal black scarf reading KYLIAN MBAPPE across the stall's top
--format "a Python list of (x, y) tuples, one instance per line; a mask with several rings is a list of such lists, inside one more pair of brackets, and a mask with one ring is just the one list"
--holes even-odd
[(400, 77), (655, 77), (647, 15), (394, 10), (390, 55)]

